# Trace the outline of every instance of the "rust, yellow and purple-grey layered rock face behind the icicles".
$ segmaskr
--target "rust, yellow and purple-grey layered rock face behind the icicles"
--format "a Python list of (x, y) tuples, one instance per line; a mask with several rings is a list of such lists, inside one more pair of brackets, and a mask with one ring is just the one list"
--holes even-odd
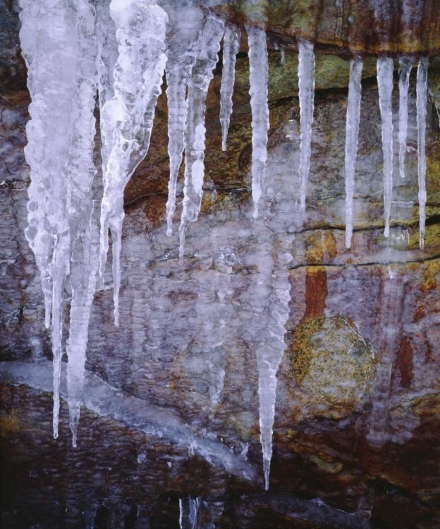
[[(265, 23), (269, 36), (286, 44), (285, 66), (279, 51), (269, 51), (271, 129), (259, 219), (252, 219), (248, 59), (242, 39), (226, 152), (218, 118), (221, 61), (209, 90), (202, 214), (189, 226), (183, 266), (178, 236), (166, 236), (169, 162), (162, 93), (149, 154), (126, 188), (120, 326), (113, 325), (108, 265), (106, 285), (94, 299), (87, 348), (90, 373), (121, 396), (168, 408), (196, 437), (228, 446), (259, 477), (231, 476), (191, 446), (161, 440), (158, 431), (145, 434), (136, 409), (124, 422), (82, 408), (78, 449), (72, 449), (66, 403), (54, 441), (51, 396), (2, 375), (5, 527), (178, 527), (178, 499), (190, 496), (201, 498), (201, 527), (438, 525), (438, 57), (429, 68), (424, 250), (418, 247), (415, 71), (406, 178), (400, 179), (396, 163), (389, 239), (383, 236), (383, 156), (372, 58), (365, 61), (362, 80), (350, 250), (345, 248), (343, 173), (345, 54), (357, 49), (434, 54), (437, 6), (413, 3), (410, 29), (401, 36), (396, 30), (401, 12), (390, 19), (374, 15), (360, 1), (314, 2), (307, 10), (302, 4), (291, 8), (288, 2), (266, 1), (234, 8), (237, 20)], [(11, 51), (18, 43), (13, 6), (6, 13), (11, 44), (0, 93), (0, 355), (10, 365), (27, 360), (31, 372), (33, 364), (51, 360), (51, 346), (39, 274), (24, 236), (29, 168), (23, 147), (30, 100)], [(292, 20), (302, 20), (300, 27), (293, 28)], [(325, 53), (317, 54), (312, 162), (307, 211), (301, 214), (298, 56), (292, 37), (312, 33)], [(397, 110), (396, 79), (396, 162)], [(99, 145), (95, 160), (99, 167)], [(100, 172), (94, 193), (99, 204)], [(182, 196), (180, 179), (176, 220)], [(67, 281), (65, 314), (70, 289)], [(286, 310), (285, 329), (279, 329), (274, 319)], [(260, 497), (257, 348), (272, 343), (279, 332), (286, 332), (286, 350), (276, 394), (273, 496)], [(289, 493), (304, 503), (294, 509), (293, 499), (283, 496)], [(322, 518), (319, 504), (310, 501), (316, 498), (329, 509), (320, 511)], [(359, 516), (340, 518), (334, 508)], [(371, 525), (365, 519), (370, 513)]]

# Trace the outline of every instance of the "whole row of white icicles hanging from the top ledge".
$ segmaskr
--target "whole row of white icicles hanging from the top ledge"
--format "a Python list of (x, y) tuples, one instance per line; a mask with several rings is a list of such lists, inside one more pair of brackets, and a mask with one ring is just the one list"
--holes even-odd
[[(226, 150), (240, 30), (209, 10), (185, 4), (167, 14), (154, 0), (20, 0), (20, 31), (32, 97), (25, 148), (31, 167), (27, 240), (42, 276), (46, 326), (54, 355), (54, 437), (58, 436), (63, 289), (71, 274), (71, 327), (67, 341), (67, 383), (73, 446), (80, 415), (90, 308), (97, 268), (104, 284), (109, 247), (113, 249), (114, 315), (118, 325), (123, 192), (145, 158), (154, 109), (164, 72), (169, 108), (169, 198), (167, 234), (176, 207), (176, 181), (185, 154), (179, 260), (185, 231), (197, 220), (204, 180), (205, 99), (223, 39), (221, 79), (222, 146)], [(247, 27), (252, 108), (252, 200), (254, 217), (262, 195), (267, 161), (269, 107), (266, 32)], [(305, 211), (314, 109), (314, 47), (298, 40), (300, 99), (300, 209)], [(408, 84), (412, 60), (400, 59), (399, 166), (405, 176)], [(353, 190), (360, 121), (362, 59), (350, 64), (346, 128), (346, 246), (353, 231)], [(393, 186), (391, 92), (393, 59), (377, 60), (384, 150), (385, 231), (389, 236)], [(99, 95), (104, 194), (99, 255), (92, 245), (92, 182), (96, 94)], [(427, 59), (417, 71), (420, 247), (424, 236), (425, 121)], [(82, 243), (84, 266), (71, 270), (75, 245)], [(75, 277), (75, 274), (77, 275)], [(271, 419), (273, 423), (273, 417)], [(269, 425), (270, 428), (272, 424)], [(267, 476), (268, 480), (268, 476)]]

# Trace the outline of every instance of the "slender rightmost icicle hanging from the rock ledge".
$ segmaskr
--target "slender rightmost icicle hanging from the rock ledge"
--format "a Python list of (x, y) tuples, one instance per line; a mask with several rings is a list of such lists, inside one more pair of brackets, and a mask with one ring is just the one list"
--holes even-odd
[(424, 248), (426, 205), (426, 116), (428, 59), (422, 57), (417, 68), (417, 175), (419, 180), (420, 250)]

